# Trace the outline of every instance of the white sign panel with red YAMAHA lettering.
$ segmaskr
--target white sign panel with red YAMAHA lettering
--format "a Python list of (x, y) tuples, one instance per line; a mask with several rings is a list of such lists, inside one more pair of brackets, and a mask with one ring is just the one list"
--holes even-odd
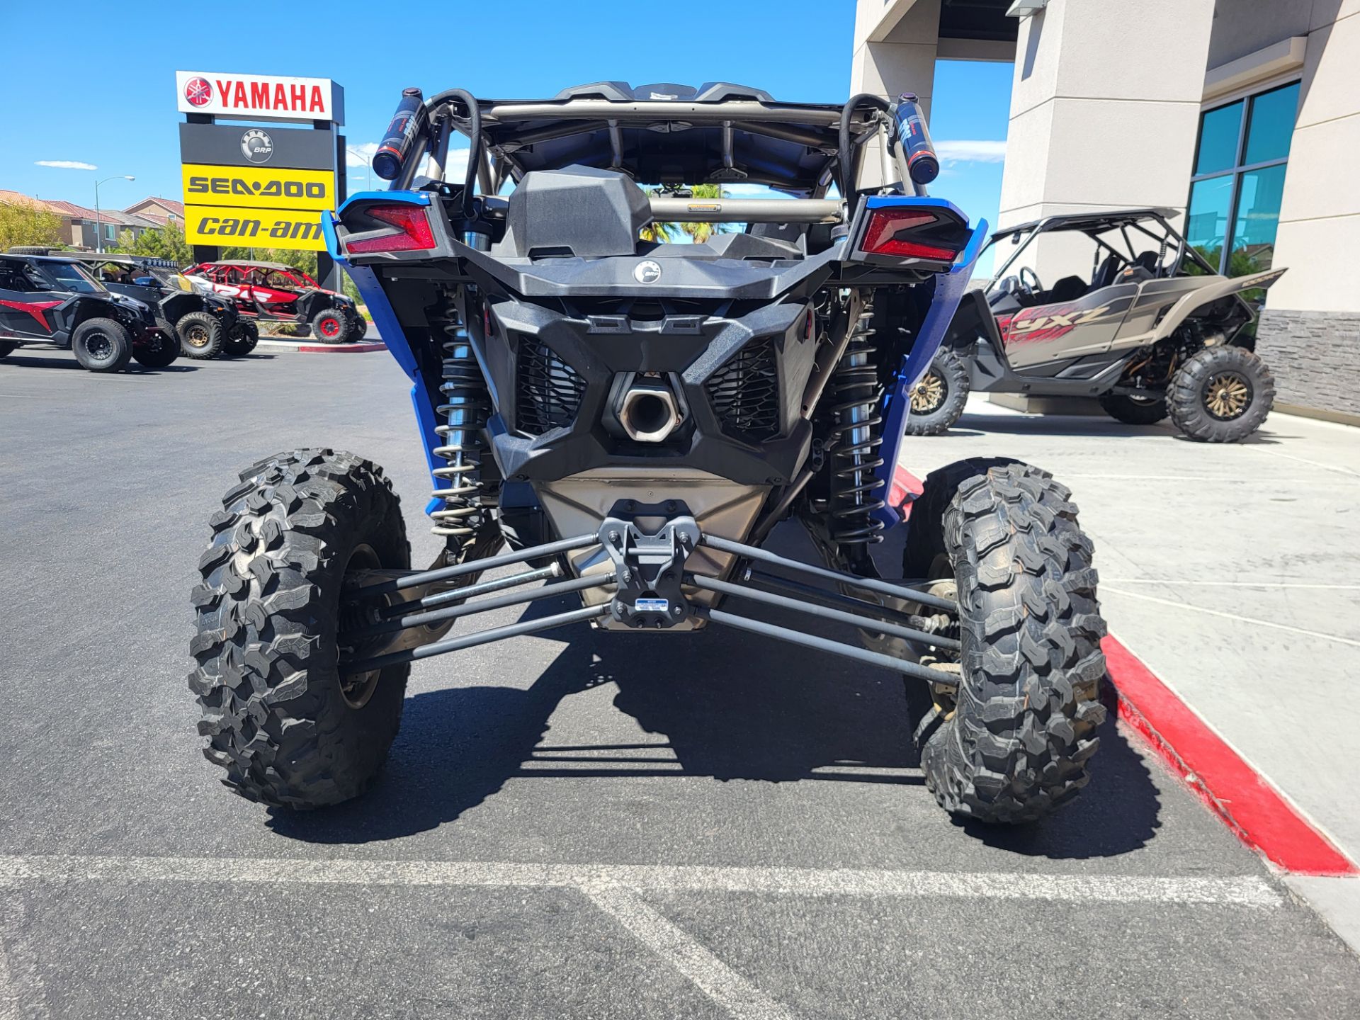
[(181, 113), (344, 124), (344, 90), (329, 78), (175, 71)]

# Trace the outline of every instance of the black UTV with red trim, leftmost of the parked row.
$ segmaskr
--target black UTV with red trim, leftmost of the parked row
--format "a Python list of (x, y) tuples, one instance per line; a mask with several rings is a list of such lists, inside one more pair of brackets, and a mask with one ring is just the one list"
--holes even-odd
[(121, 371), (132, 359), (163, 369), (180, 356), (148, 305), (110, 292), (78, 261), (0, 254), (0, 358), (16, 347), (68, 348), (90, 371)]

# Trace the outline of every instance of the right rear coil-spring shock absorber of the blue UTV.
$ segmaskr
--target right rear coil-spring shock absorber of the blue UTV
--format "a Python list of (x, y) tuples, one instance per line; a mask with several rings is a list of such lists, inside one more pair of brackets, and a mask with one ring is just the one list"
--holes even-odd
[(883, 481), (874, 471), (883, 445), (883, 388), (872, 355), (873, 302), (864, 305), (850, 332), (845, 354), (831, 379), (831, 537), (842, 545), (872, 545), (883, 541), (883, 521), (874, 511), (884, 502), (874, 496)]

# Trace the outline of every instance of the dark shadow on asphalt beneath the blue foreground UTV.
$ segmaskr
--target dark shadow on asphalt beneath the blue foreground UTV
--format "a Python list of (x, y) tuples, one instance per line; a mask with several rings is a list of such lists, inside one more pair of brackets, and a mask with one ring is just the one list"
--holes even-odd
[[(522, 619), (568, 608), (552, 600)], [(268, 824), (313, 843), (398, 839), (456, 821), (510, 779), (562, 777), (887, 783), (930, 798), (900, 677), (717, 627), (691, 636), (574, 628), (570, 638), (528, 688), (466, 685), (409, 698), (369, 794), (318, 812), (271, 812)], [(676, 641), (688, 642), (684, 656), (668, 651), (665, 642)], [(613, 707), (664, 738), (574, 744), (548, 736), (570, 726), (549, 724), (564, 699), (604, 684), (616, 687)], [(1050, 858), (1112, 857), (1148, 843), (1159, 827), (1157, 792), (1112, 722), (1092, 771), (1091, 786), (1051, 819), (964, 831)]]

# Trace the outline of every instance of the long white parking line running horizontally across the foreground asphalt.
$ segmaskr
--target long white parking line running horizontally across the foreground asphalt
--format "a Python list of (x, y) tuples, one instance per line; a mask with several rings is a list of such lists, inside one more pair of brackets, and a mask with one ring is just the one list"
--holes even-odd
[(4, 881), (261, 883), (458, 885), (645, 891), (763, 892), (793, 896), (964, 898), (1068, 903), (1185, 903), (1278, 907), (1257, 876), (1034, 874), (857, 868), (511, 864), (250, 857), (0, 855)]

